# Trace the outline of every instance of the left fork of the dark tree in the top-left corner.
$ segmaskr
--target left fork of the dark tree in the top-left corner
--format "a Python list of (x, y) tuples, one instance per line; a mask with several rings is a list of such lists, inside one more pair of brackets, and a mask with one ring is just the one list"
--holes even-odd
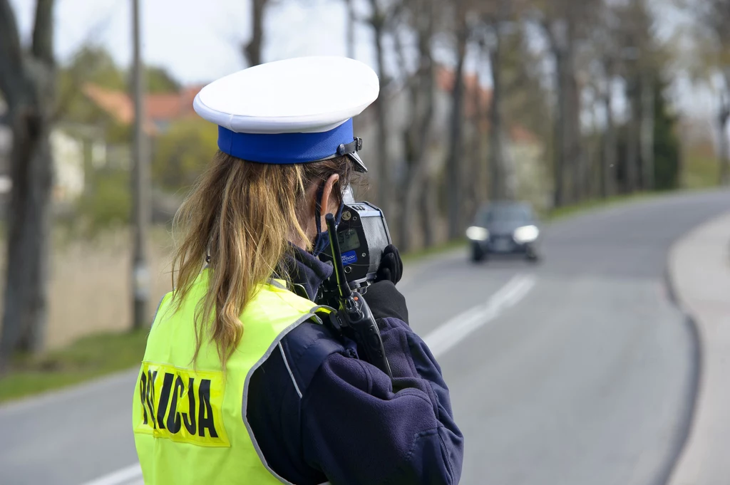
[(8, 0), (0, 0), (0, 90), (12, 104), (23, 88), (23, 50), (18, 24)]

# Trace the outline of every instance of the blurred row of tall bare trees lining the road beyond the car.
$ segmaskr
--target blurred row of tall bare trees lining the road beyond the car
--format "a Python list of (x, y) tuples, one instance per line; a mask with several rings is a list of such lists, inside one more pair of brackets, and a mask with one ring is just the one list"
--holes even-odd
[[(721, 0), (717, 0), (721, 1)], [(243, 52), (261, 61), (263, 19), (272, 1), (253, 1), (253, 33)], [(381, 96), (374, 105), (377, 203), (398, 216), (399, 243), (412, 245), (408, 221), (422, 214), (424, 244), (460, 236), (466, 199), (515, 197), (510, 125), (529, 128), (545, 147), (552, 205), (677, 185), (678, 142), (664, 102), (668, 56), (645, 0), (345, 0), (354, 53), (369, 28)], [(359, 28), (356, 29), (356, 26)], [(428, 162), (434, 130), (437, 55), (453, 69), (448, 141), (436, 173)], [(468, 92), (466, 65), (488, 71), (491, 102)], [(409, 123), (399, 132), (388, 104), (406, 93)], [(623, 104), (623, 109), (617, 106)], [(669, 125), (669, 129), (664, 129)], [(476, 149), (470, 141), (476, 133)], [(396, 142), (404, 155), (393, 160)], [(657, 158), (658, 152), (662, 152)], [(401, 176), (393, 178), (396, 170)], [(672, 168), (674, 167), (674, 168)], [(478, 174), (485, 173), (482, 177)], [(661, 174), (658, 178), (658, 174)], [(474, 176), (470, 176), (474, 175)], [(485, 183), (485, 181), (487, 181)], [(477, 185), (477, 187), (469, 187)], [(394, 195), (395, 194), (395, 195)], [(393, 209), (393, 210), (391, 210)]]

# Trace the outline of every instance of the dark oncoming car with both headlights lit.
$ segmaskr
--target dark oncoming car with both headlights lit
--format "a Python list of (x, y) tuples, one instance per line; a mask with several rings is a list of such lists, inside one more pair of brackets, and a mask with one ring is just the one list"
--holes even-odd
[(471, 259), (479, 262), (488, 255), (524, 255), (539, 259), (540, 230), (532, 206), (526, 202), (497, 201), (477, 212), (474, 224), (466, 229), (471, 243)]

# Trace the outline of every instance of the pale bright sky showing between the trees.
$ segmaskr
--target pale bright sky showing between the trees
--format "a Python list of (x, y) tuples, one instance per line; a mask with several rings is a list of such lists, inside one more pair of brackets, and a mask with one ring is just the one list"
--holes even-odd
[[(83, 44), (100, 44), (120, 65), (131, 60), (131, 0), (56, 0), (56, 54), (64, 63)], [(653, 0), (664, 4), (667, 0)], [(11, 0), (21, 35), (28, 39), (35, 0)], [(140, 0), (142, 55), (164, 66), (183, 84), (210, 82), (243, 69), (242, 42), (250, 35), (250, 0)], [(264, 61), (299, 55), (346, 55), (347, 26), (342, 0), (272, 0), (266, 11)], [(664, 32), (679, 22), (664, 16)], [(373, 68), (372, 34), (356, 28), (355, 57)], [(449, 61), (438, 55), (439, 61)], [(472, 59), (472, 66), (473, 66)], [(469, 69), (469, 63), (467, 63)], [(488, 79), (488, 69), (482, 74)], [(681, 111), (707, 116), (713, 99), (687, 79), (672, 91)]]

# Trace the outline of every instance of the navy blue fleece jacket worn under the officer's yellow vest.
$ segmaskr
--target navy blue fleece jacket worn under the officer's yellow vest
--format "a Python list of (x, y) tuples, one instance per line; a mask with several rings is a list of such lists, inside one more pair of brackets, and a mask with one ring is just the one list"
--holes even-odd
[[(314, 299), (331, 268), (298, 251), (291, 278)], [(266, 465), (296, 485), (457, 484), (464, 438), (441, 369), (407, 325), (405, 300), (368, 298), (393, 370), (305, 322), (251, 376), (247, 421)], [(374, 295), (374, 292), (373, 292)], [(372, 303), (371, 303), (372, 300)], [(381, 303), (383, 302), (383, 303)]]

